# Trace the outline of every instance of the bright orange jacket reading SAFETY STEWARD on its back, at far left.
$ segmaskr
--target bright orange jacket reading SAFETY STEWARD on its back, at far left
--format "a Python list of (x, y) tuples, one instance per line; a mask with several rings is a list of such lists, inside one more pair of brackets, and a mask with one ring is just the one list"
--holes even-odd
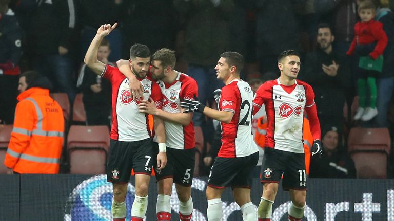
[(18, 173), (58, 173), (64, 118), (49, 90), (32, 87), (17, 97), (4, 164)]

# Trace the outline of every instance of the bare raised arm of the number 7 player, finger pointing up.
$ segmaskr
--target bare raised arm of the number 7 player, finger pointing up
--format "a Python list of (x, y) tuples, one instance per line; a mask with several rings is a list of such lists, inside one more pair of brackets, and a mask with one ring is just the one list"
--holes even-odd
[(116, 26), (117, 23), (113, 24), (113, 26), (110, 24), (101, 25), (100, 28), (97, 29), (97, 33), (90, 43), (88, 51), (86, 51), (84, 62), (94, 73), (98, 75), (102, 75), (105, 69), (105, 64), (97, 60), (97, 52), (99, 51), (100, 43)]

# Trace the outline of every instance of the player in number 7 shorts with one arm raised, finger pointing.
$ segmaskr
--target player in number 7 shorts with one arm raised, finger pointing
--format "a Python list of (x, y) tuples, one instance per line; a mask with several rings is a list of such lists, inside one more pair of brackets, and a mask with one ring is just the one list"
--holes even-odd
[[(102, 25), (94, 36), (84, 62), (96, 74), (102, 75), (112, 84), (112, 128), (110, 152), (107, 164), (107, 180), (113, 185), (113, 220), (125, 221), (127, 183), (131, 169), (135, 172), (135, 198), (131, 208), (131, 220), (142, 221), (148, 205), (148, 187), (152, 169), (152, 139), (148, 129), (148, 117), (139, 112), (139, 101), (132, 99), (129, 81), (114, 67), (97, 60), (97, 51), (103, 38), (115, 27)], [(146, 78), (150, 64), (150, 51), (147, 46), (135, 44), (130, 48), (130, 65), (135, 76), (144, 86), (146, 97), (151, 96), (160, 108), (162, 98), (156, 82)], [(160, 118), (154, 119), (154, 128), (159, 140), (157, 165), (164, 169), (167, 163), (165, 128)]]

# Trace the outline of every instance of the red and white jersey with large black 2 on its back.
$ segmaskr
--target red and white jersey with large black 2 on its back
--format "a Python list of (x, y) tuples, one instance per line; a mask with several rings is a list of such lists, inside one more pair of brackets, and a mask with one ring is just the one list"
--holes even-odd
[(233, 112), (230, 123), (221, 122), (222, 147), (218, 157), (246, 157), (259, 149), (252, 135), (253, 92), (243, 80), (233, 80), (222, 88), (219, 110)]

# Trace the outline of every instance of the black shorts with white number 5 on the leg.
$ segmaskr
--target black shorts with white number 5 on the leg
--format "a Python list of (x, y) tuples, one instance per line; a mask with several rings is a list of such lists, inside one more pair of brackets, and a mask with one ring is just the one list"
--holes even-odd
[[(153, 152), (155, 156), (159, 153), (157, 143), (153, 142)], [(195, 164), (195, 148), (193, 149), (173, 149), (167, 147), (167, 165), (161, 171), (157, 171), (157, 161), (153, 162), (156, 173), (156, 180), (165, 178), (173, 179), (173, 183), (182, 186), (191, 186), (193, 182)]]

